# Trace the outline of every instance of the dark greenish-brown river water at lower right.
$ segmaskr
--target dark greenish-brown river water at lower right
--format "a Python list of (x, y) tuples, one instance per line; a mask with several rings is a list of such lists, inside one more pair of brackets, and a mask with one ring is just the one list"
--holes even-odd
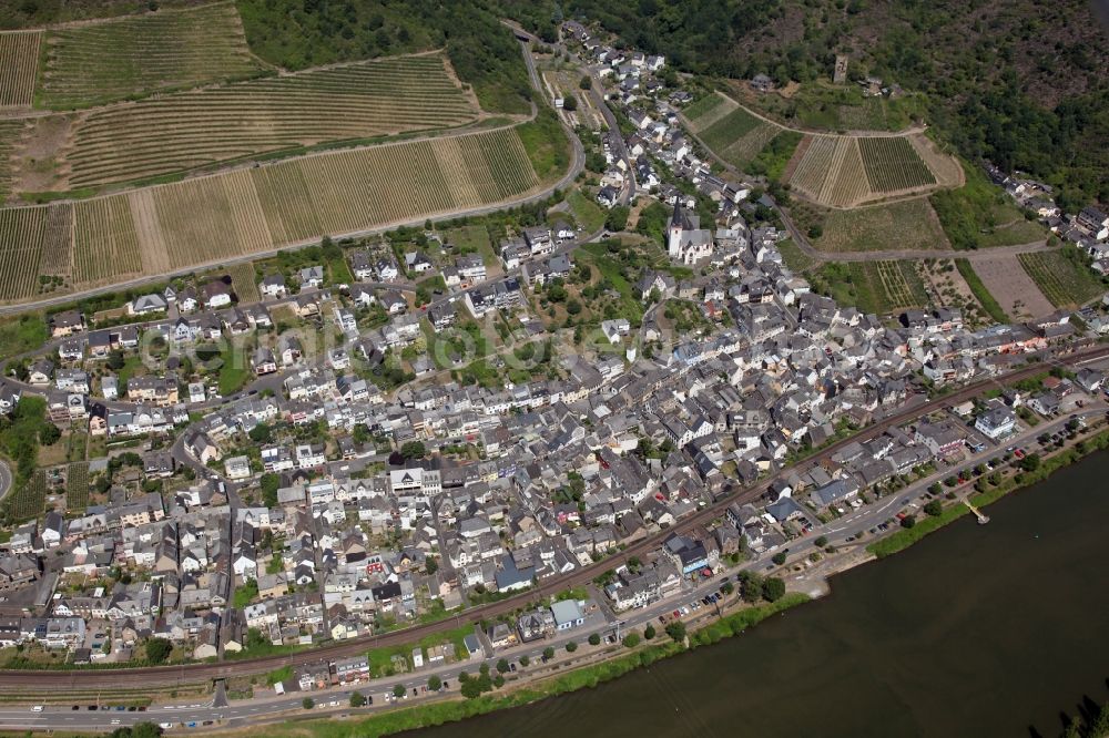
[(1109, 453), (989, 515), (742, 636), (419, 738), (1055, 737), (1109, 699)]

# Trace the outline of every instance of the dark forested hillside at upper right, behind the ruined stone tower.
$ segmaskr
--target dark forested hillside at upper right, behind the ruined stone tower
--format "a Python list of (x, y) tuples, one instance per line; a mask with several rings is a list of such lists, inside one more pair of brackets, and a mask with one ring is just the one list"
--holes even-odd
[(970, 160), (1022, 168), (1060, 204), (1109, 202), (1109, 33), (1085, 0), (502, 0), (549, 35), (600, 22), (684, 71), (780, 84), (877, 74), (928, 96), (926, 120)]

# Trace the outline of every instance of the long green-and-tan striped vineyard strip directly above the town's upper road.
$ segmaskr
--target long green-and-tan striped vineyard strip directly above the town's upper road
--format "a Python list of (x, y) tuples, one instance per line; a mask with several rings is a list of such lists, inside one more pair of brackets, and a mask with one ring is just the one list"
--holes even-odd
[[(44, 249), (64, 255), (71, 286), (166, 274), (221, 260), (423, 222), (517, 199), (540, 187), (515, 129), (276, 162), (145, 189), (0, 209), (4, 300), (32, 296)], [(70, 214), (70, 215), (67, 215)], [(71, 218), (71, 219), (70, 219)], [(57, 223), (57, 226), (50, 226)], [(64, 244), (62, 244), (64, 245)], [(63, 258), (59, 256), (58, 258)], [(69, 266), (65, 265), (67, 274)]]

